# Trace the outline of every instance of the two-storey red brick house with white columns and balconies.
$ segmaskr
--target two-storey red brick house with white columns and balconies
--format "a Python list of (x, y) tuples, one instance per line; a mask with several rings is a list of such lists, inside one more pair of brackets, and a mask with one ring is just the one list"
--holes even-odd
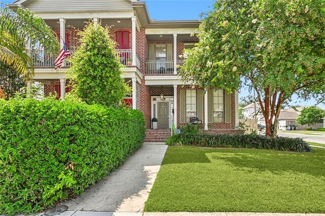
[[(184, 48), (190, 49), (198, 41), (191, 33), (199, 27), (199, 20), (151, 20), (146, 3), (137, 0), (18, 0), (9, 7), (15, 9), (18, 5), (42, 17), (63, 39), (61, 47), (64, 41), (72, 54), (79, 46), (77, 32), (85, 21), (101, 20), (102, 25), (112, 26), (110, 37), (118, 44), (116, 49), (125, 65), (121, 70), (133, 89), (125, 100), (132, 103), (133, 109), (143, 112), (147, 141), (163, 141), (173, 122), (177, 127), (182, 126), (191, 117), (198, 117), (205, 129), (216, 133), (236, 132), (237, 92), (193, 88), (177, 75)], [(69, 65), (54, 70), (55, 56), (42, 49), (34, 49), (32, 53), (34, 81), (44, 83), (46, 95), (57, 94), (64, 99), (70, 90), (69, 77), (64, 73)], [(154, 117), (158, 119), (158, 130), (151, 129)]]

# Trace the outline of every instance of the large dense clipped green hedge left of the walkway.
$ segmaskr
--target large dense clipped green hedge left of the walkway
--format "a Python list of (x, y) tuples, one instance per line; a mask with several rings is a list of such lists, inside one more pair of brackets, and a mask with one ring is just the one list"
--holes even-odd
[(0, 214), (37, 212), (82, 193), (144, 140), (140, 111), (0, 99)]

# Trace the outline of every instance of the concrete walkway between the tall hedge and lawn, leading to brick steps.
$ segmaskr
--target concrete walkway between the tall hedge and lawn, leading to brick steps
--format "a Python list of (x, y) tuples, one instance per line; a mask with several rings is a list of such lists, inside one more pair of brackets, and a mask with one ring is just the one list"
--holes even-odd
[(119, 215), (142, 214), (167, 148), (167, 145), (145, 143), (102, 181), (82, 195), (62, 202), (62, 205), (68, 206), (68, 211), (59, 215), (113, 215), (112, 212), (129, 212)]

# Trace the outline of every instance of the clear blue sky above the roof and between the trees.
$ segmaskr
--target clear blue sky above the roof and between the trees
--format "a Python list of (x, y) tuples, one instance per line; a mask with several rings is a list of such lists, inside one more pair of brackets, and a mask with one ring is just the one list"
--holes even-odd
[[(0, 0), (0, 2), (9, 4), (14, 1)], [(200, 19), (200, 14), (208, 12), (214, 3), (213, 0), (147, 0), (147, 7), (150, 18), (156, 20), (193, 20)], [(247, 88), (242, 88), (240, 97), (249, 94)], [(290, 105), (314, 105), (315, 100), (303, 101), (297, 96), (293, 96)], [(319, 104), (319, 107), (325, 109), (325, 104)]]

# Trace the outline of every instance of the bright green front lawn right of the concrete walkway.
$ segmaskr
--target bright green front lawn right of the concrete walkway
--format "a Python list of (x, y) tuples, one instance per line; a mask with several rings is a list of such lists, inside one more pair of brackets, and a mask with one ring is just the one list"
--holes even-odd
[(169, 147), (145, 211), (325, 212), (325, 150)]

